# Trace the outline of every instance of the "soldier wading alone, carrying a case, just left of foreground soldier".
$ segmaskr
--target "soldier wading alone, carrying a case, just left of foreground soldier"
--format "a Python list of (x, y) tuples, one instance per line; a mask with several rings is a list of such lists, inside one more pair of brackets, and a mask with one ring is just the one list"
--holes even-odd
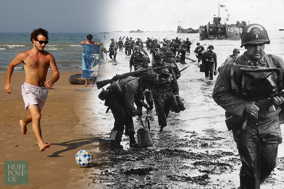
[(213, 52), (214, 46), (210, 44), (208, 49), (203, 55), (201, 56), (202, 64), (205, 64), (205, 78), (209, 80), (213, 79), (213, 71), (215, 65), (215, 71), (217, 69), (217, 56), (216, 53)]

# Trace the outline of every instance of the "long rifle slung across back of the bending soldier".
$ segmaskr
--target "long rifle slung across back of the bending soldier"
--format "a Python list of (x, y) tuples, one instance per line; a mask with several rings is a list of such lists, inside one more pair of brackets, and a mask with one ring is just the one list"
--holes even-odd
[(168, 67), (168, 66), (147, 68), (147, 69), (144, 69), (144, 70), (137, 70), (137, 71), (133, 71), (133, 72), (127, 72), (127, 73), (119, 74), (119, 75), (113, 76), (112, 79), (106, 79), (106, 80), (103, 80), (103, 81), (96, 82), (97, 88), (100, 89), (100, 88), (104, 87), (105, 85), (112, 83), (113, 81), (116, 81), (118, 79), (123, 79), (123, 78), (129, 77), (129, 76), (134, 76), (136, 74), (143, 73), (143, 72), (146, 72), (146, 71), (149, 71), (149, 70), (156, 70), (156, 69), (160, 69), (160, 68), (164, 68), (164, 67)]

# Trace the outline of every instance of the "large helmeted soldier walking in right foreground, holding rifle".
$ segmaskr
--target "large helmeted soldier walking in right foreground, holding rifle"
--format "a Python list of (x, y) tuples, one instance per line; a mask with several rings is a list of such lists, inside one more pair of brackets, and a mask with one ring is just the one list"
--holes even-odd
[[(242, 167), (241, 189), (260, 188), (277, 165), (277, 149), (282, 142), (279, 124), (283, 97), (273, 97), (283, 87), (284, 63), (264, 52), (269, 44), (267, 31), (259, 24), (249, 24), (242, 32), (246, 51), (229, 59), (220, 70), (213, 99), (223, 107), (227, 127), (232, 129)], [(259, 108), (255, 102), (274, 99), (273, 105)]]

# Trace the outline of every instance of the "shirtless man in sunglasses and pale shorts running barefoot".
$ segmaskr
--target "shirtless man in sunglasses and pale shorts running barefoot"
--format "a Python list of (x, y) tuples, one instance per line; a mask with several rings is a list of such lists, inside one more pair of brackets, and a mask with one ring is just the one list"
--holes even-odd
[[(31, 122), (34, 136), (39, 145), (39, 151), (44, 151), (46, 148), (49, 148), (51, 144), (46, 144), (42, 140), (40, 112), (45, 104), (48, 89), (59, 79), (59, 71), (54, 57), (43, 50), (48, 43), (48, 31), (42, 28), (33, 30), (30, 35), (30, 41), (33, 42), (33, 48), (18, 53), (12, 62), (10, 62), (4, 88), (6, 93), (11, 94), (10, 81), (14, 67), (23, 63), (25, 69), (25, 83), (22, 84), (22, 96), (25, 102), (25, 109), (28, 109), (30, 113), (25, 119), (20, 120), (22, 135), (25, 136), (27, 133), (27, 125)], [(46, 80), (49, 66), (53, 72), (53, 77), (50, 80)]]

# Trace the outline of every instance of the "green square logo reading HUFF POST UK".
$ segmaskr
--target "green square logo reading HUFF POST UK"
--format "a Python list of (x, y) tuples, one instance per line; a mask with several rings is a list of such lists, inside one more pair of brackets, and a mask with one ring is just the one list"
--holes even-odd
[(29, 184), (28, 161), (5, 161), (4, 182), (5, 185), (28, 185)]

